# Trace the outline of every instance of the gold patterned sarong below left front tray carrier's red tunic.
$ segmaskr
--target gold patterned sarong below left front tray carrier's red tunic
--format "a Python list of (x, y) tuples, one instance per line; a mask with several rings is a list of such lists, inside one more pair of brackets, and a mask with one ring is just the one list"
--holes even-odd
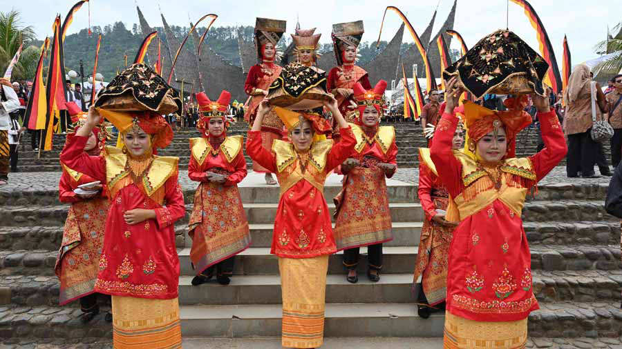
[(112, 297), (113, 345), (126, 348), (181, 348), (179, 301)]

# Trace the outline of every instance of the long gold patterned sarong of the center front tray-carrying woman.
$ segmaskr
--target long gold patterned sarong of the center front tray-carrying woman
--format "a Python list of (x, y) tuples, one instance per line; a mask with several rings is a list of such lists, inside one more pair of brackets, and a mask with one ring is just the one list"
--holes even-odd
[(319, 348), (324, 337), (328, 255), (279, 258), (283, 292), (281, 345)]

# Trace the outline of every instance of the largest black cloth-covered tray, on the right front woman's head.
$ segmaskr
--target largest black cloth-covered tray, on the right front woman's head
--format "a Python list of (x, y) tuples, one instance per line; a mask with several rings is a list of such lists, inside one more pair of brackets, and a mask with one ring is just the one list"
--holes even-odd
[(545, 95), (543, 79), (549, 63), (509, 30), (481, 39), (461, 59), (444, 70), (443, 78), (458, 77), (475, 98), (484, 94)]

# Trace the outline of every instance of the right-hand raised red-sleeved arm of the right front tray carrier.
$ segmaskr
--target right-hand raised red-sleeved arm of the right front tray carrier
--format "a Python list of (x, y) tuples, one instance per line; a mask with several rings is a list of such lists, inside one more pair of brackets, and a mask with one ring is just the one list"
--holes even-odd
[(545, 143), (543, 150), (531, 156), (531, 163), (534, 164), (534, 171), (536, 172), (536, 180), (540, 181), (566, 156), (568, 148), (557, 114), (549, 106), (549, 99), (536, 94), (532, 98), (538, 110), (540, 130)]

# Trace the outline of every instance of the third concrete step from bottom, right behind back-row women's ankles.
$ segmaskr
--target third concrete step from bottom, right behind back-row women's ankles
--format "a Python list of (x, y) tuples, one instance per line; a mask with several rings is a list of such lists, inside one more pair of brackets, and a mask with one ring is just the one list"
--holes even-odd
[[(412, 273), (415, 270), (417, 246), (383, 247), (382, 270), (384, 274)], [(359, 252), (360, 275), (367, 272), (367, 248), (361, 247)], [(191, 266), (190, 249), (178, 249), (181, 275), (196, 275)], [(277, 275), (279, 274), (279, 259), (270, 255), (270, 248), (250, 247), (236, 256), (234, 275)], [(343, 251), (330, 255), (328, 259), (328, 274), (346, 274), (343, 266)]]

